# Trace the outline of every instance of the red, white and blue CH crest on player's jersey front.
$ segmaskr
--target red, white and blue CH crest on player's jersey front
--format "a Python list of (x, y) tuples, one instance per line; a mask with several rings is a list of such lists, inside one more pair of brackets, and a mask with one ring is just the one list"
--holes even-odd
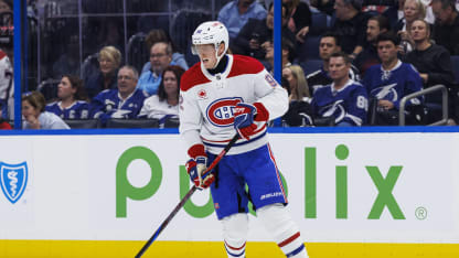
[(207, 107), (207, 120), (216, 127), (233, 125), (234, 107), (242, 101), (239, 97), (216, 99)]

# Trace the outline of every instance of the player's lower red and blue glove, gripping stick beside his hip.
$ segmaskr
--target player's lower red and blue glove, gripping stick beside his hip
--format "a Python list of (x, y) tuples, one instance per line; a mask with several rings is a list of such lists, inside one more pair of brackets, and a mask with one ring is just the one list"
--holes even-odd
[(215, 176), (211, 171), (203, 174), (207, 169), (207, 155), (205, 154), (204, 146), (195, 144), (190, 148), (188, 153), (191, 159), (186, 162), (185, 168), (191, 182), (199, 189), (209, 187), (215, 181)]

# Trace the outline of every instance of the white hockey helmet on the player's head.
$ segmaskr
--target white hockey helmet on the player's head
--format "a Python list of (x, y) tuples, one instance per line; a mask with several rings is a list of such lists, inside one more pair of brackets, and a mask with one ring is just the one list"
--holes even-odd
[[(222, 56), (226, 53), (230, 45), (230, 36), (228, 36), (228, 30), (226, 30), (226, 26), (221, 23), (220, 21), (207, 21), (201, 23), (196, 30), (193, 32), (192, 35), (192, 52), (193, 54), (198, 54), (195, 50), (195, 45), (204, 45), (204, 44), (213, 44), (215, 46), (215, 50), (218, 50), (218, 46), (221, 43), (225, 43), (225, 51), (222, 54)], [(217, 55), (218, 53), (216, 53)], [(217, 60), (222, 56), (216, 56)], [(218, 62), (217, 62), (218, 63)]]

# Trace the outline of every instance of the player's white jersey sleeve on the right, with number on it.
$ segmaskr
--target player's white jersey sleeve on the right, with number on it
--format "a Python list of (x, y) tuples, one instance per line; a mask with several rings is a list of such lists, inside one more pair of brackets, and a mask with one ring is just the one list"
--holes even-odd
[(288, 94), (276, 79), (263, 69), (255, 76), (256, 103), (263, 104), (269, 112), (269, 120), (281, 117), (288, 110)]

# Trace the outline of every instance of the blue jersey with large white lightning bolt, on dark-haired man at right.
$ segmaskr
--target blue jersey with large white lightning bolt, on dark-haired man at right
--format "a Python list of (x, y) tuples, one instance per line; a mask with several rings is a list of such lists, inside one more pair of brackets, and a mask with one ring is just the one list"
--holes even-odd
[[(363, 85), (370, 97), (389, 100), (398, 109), (403, 97), (423, 89), (423, 79), (413, 65), (398, 61), (391, 71), (383, 69), (381, 64), (371, 66), (365, 73)], [(412, 98), (407, 105), (418, 105), (423, 100), (423, 97)]]

